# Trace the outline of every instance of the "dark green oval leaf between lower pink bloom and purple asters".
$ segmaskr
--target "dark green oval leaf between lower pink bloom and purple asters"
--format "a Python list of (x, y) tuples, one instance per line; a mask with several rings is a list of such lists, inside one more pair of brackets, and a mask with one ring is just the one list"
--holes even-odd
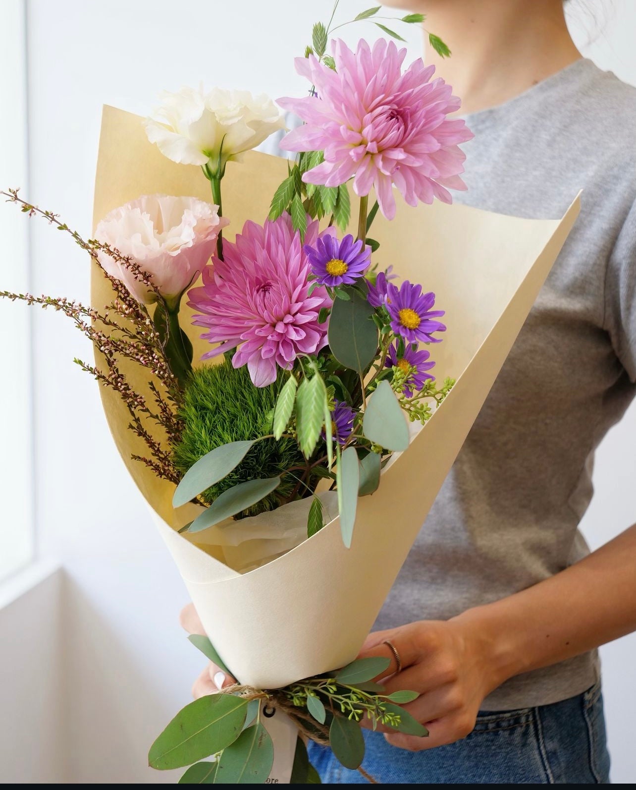
[(344, 367), (364, 374), (378, 348), (378, 329), (372, 320), (374, 311), (369, 302), (353, 289), (339, 291), (349, 295), (350, 299), (334, 301), (327, 330), (329, 348)]

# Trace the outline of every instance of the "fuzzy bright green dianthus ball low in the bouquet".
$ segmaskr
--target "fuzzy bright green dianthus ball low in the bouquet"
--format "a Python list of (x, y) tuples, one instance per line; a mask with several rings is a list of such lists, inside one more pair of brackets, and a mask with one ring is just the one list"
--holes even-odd
[[(288, 374), (280, 371), (274, 384), (255, 387), (247, 367), (235, 369), (228, 359), (219, 365), (196, 368), (185, 386), (184, 402), (178, 412), (184, 429), (181, 441), (174, 444), (172, 458), (179, 472), (185, 474), (201, 457), (223, 444), (270, 434), (276, 398), (287, 378)], [(210, 504), (238, 483), (275, 477), (292, 466), (304, 464), (295, 439), (281, 438), (278, 442), (264, 439), (256, 442), (241, 463), (204, 491), (201, 498)], [(275, 510), (296, 484), (293, 476), (284, 476), (275, 491), (237, 517)]]

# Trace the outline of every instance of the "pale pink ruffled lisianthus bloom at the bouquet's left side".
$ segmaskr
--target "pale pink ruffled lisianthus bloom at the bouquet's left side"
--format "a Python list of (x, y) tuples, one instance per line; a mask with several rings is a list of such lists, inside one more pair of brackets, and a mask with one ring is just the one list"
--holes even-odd
[[(218, 208), (196, 198), (143, 195), (107, 214), (95, 238), (137, 263), (170, 303), (208, 263), (216, 237), (227, 224)], [(98, 256), (107, 273), (122, 280), (135, 299), (145, 304), (156, 301), (152, 288), (136, 280), (125, 265), (107, 253)]]

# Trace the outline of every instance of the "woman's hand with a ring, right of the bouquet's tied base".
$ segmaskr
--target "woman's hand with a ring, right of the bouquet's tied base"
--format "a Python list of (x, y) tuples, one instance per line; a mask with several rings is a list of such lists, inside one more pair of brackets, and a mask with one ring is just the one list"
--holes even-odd
[[(384, 641), (391, 641), (398, 651), (401, 672), (396, 673), (395, 656)], [(488, 641), (462, 619), (422, 620), (369, 634), (359, 657), (391, 658), (391, 665), (378, 680), (387, 694), (403, 689), (421, 694), (403, 707), (429, 733), (421, 738), (382, 728), (387, 741), (402, 749), (420, 751), (465, 738), (475, 726), (484, 698), (504, 679), (497, 676), (496, 661), (490, 653)]]

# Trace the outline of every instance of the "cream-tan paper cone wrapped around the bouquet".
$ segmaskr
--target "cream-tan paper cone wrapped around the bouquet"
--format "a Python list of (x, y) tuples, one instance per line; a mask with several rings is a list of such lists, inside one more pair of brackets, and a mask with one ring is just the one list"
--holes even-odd
[[(248, 153), (244, 164), (230, 163), (223, 180), (223, 209), (230, 219), (226, 238), (247, 219), (264, 220), (285, 176), (284, 160), (256, 152)], [(104, 108), (95, 222), (140, 194), (211, 201), (208, 186), (199, 168), (174, 164), (148, 143), (140, 118)], [(131, 453), (143, 454), (143, 446), (127, 428), (125, 408), (102, 389), (118, 449), (155, 510), (208, 635), (241, 683), (280, 687), (355, 658), (578, 209), (576, 199), (561, 220), (523, 220), (440, 202), (415, 209), (400, 202), (391, 223), (376, 217), (373, 236), (381, 243), (376, 263), (393, 264), (403, 278), (436, 292), (436, 307), (447, 311), (447, 332), (432, 355), (438, 376), (455, 377), (457, 383), (409, 449), (385, 469), (379, 490), (358, 500), (349, 550), (336, 518), (278, 559), (240, 574), (222, 562), (223, 547), (199, 547), (178, 535), (174, 528), (190, 520), (191, 506), (175, 513), (174, 486), (129, 460)], [(110, 299), (109, 284), (95, 270), (93, 306), (100, 309)], [(199, 359), (206, 345), (187, 316), (186, 310), (181, 323)], [(135, 389), (148, 391), (146, 371), (131, 365), (125, 372)], [(253, 542), (242, 545), (248, 551)]]

